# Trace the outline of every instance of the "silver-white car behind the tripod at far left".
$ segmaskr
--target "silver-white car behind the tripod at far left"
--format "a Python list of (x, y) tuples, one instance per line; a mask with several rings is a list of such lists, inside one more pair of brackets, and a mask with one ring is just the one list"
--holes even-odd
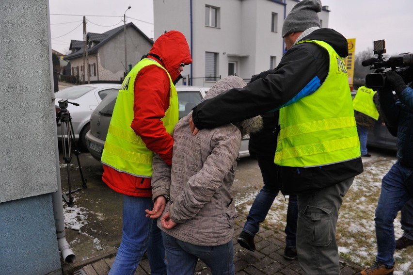
[[(67, 104), (67, 111), (69, 111), (72, 118), (73, 133), (76, 141), (79, 142), (80, 148), (87, 148), (85, 135), (89, 131), (90, 115), (103, 98), (112, 93), (116, 94), (113, 89), (119, 89), (120, 86), (116, 83), (84, 84), (65, 88), (54, 94), (56, 97), (56, 115), (60, 112), (59, 101), (62, 99), (68, 99), (69, 102), (79, 104), (79, 106)], [(59, 140), (62, 139), (60, 126), (57, 127), (57, 137)]]

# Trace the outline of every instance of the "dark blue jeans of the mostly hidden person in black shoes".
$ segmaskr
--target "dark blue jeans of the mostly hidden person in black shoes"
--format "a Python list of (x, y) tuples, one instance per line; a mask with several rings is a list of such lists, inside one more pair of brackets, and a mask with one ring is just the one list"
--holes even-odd
[[(274, 164), (274, 158), (271, 156), (256, 155), (254, 153), (252, 153), (251, 156), (255, 157), (258, 161), (258, 166), (264, 181), (264, 187), (255, 197), (254, 203), (247, 216), (247, 222), (242, 231), (255, 236), (259, 230), (259, 224), (265, 220), (275, 197), (280, 191), (280, 185), (277, 182), (277, 165)], [(296, 247), (297, 217), (297, 195), (290, 195), (288, 199), (285, 229), (287, 247)]]

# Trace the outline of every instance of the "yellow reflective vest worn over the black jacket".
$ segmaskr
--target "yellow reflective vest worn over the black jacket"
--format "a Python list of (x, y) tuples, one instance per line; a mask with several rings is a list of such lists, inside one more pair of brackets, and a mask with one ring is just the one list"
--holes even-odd
[(313, 94), (280, 109), (281, 130), (274, 163), (314, 167), (360, 157), (346, 66), (335, 50), (316, 43), (330, 55), (327, 78)]

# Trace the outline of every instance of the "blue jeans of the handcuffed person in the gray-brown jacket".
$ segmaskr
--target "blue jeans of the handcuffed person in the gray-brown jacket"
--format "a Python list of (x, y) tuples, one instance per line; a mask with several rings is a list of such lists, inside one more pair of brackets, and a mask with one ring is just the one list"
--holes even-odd
[(168, 275), (193, 275), (201, 259), (211, 269), (212, 275), (233, 275), (234, 245), (232, 240), (217, 246), (200, 246), (180, 241), (162, 231), (168, 259)]

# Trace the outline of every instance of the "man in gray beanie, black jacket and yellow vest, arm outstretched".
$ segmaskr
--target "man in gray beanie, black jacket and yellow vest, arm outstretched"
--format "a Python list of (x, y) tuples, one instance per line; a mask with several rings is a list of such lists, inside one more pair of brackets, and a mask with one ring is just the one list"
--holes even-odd
[(274, 72), (201, 102), (190, 126), (196, 134), (280, 110), (274, 163), (282, 193), (297, 194), (298, 260), (306, 274), (340, 274), (338, 212), (363, 163), (343, 61), (347, 39), (320, 28), (321, 9), (320, 0), (299, 1), (284, 20), (288, 50)]

